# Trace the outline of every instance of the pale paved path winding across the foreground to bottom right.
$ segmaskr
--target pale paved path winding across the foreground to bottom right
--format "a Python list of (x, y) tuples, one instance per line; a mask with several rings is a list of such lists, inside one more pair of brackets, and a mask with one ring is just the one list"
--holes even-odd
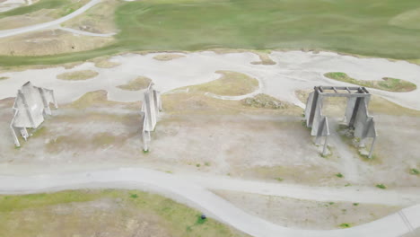
[[(410, 229), (407, 228), (407, 224), (413, 229), (420, 227), (420, 205), (416, 205), (401, 210), (400, 213), (403, 215), (398, 213), (388, 215), (372, 223), (348, 229), (312, 231), (286, 228), (243, 212), (198, 185), (197, 183), (200, 181), (196, 183), (194, 180), (186, 180), (190, 178), (145, 169), (118, 169), (39, 176), (0, 176), (0, 193), (32, 193), (83, 188), (144, 189), (159, 192), (188, 204), (188, 206), (196, 207), (244, 233), (261, 237), (396, 237), (409, 233)], [(219, 181), (214, 180), (214, 186), (223, 185)]]

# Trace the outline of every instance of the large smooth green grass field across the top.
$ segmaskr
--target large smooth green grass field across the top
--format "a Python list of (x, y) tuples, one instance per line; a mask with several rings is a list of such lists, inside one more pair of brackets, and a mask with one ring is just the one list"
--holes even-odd
[[(207, 48), (305, 48), (418, 59), (420, 31), (403, 27), (416, 23), (416, 14), (404, 14), (416, 8), (417, 0), (127, 2), (116, 11), (120, 32), (111, 46), (47, 57), (0, 57), (0, 63), (57, 64), (131, 50)], [(404, 22), (390, 23), (400, 15)]]

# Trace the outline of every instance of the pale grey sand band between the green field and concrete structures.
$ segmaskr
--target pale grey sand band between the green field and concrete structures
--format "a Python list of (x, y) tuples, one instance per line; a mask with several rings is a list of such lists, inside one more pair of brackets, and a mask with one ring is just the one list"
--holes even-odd
[[(420, 66), (414, 64), (404, 61), (391, 62), (386, 59), (341, 56), (328, 52), (319, 54), (302, 51), (273, 52), (270, 57), (277, 63), (273, 66), (251, 64), (258, 60), (258, 57), (251, 53), (197, 52), (171, 61), (155, 60), (153, 57), (156, 55), (127, 54), (112, 57), (111, 61), (121, 65), (109, 69), (95, 68), (92, 63), (85, 63), (70, 70), (57, 67), (3, 74), (1, 76), (10, 76), (11, 79), (0, 82), (0, 99), (14, 96), (14, 91), (30, 78), (28, 75), (36, 75), (37, 79), (32, 80), (33, 83), (56, 90), (59, 102), (74, 101), (83, 93), (93, 90), (107, 90), (109, 99), (112, 101), (137, 101), (139, 98), (136, 93), (122, 93), (115, 86), (143, 75), (151, 78), (158, 90), (168, 92), (182, 86), (212, 81), (218, 76), (214, 74), (215, 71), (228, 70), (257, 78), (262, 83), (261, 92), (302, 107), (302, 102), (294, 95), (296, 90), (311, 89), (319, 84), (351, 85), (324, 77), (323, 75), (327, 72), (341, 71), (360, 80), (381, 80), (382, 77), (390, 76), (412, 83), (420, 82)], [(179, 70), (179, 68), (185, 68), (185, 70)], [(83, 83), (62, 83), (55, 80), (54, 75), (83, 69), (97, 70), (100, 75)], [(7, 88), (7, 90), (2, 90), (2, 88)], [(417, 103), (420, 97), (419, 90), (382, 92), (371, 89), (371, 92), (405, 107), (420, 110), (420, 104)]]

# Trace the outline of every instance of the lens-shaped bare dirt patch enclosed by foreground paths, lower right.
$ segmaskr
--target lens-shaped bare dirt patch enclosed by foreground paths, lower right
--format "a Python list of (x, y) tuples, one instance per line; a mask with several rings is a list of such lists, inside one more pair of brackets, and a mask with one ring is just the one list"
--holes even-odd
[(398, 212), (403, 207), (317, 202), (225, 190), (215, 190), (214, 193), (249, 214), (260, 216), (282, 226), (310, 230), (337, 229), (340, 224), (350, 226), (365, 224)]

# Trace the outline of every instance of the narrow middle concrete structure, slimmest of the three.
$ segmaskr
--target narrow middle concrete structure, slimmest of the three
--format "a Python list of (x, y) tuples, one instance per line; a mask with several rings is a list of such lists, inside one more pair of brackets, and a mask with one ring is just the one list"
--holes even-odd
[(154, 131), (159, 111), (162, 110), (161, 93), (153, 90), (153, 83), (150, 83), (144, 92), (142, 104), (142, 136), (143, 150), (149, 151), (149, 142), (151, 141), (150, 132)]

